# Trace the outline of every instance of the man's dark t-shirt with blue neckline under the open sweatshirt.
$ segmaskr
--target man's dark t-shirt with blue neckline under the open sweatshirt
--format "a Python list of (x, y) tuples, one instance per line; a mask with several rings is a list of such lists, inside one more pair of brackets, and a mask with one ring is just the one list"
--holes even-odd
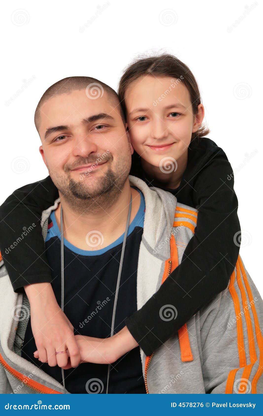
[[(119, 332), (125, 326), (125, 319), (137, 310), (138, 254), (145, 213), (145, 201), (141, 192), (140, 198), (140, 208), (128, 229), (114, 333)], [(124, 234), (103, 249), (99, 248), (100, 241), (90, 236), (87, 248), (90, 244), (94, 248), (98, 247), (96, 250), (81, 250), (64, 239), (64, 312), (74, 327), (75, 335), (98, 338), (110, 336), (123, 236)], [(52, 211), (49, 218), (45, 248), (52, 270), (52, 287), (57, 302), (61, 305), (60, 230), (55, 211)], [(22, 357), (41, 367), (62, 384), (61, 368), (50, 367), (48, 363), (43, 364), (35, 359), (35, 350), (29, 320)], [(95, 392), (105, 393), (108, 364), (82, 363), (76, 368), (64, 370), (64, 376), (65, 387), (70, 393), (93, 392), (92, 385), (98, 385)], [(97, 381), (94, 382), (94, 379)], [(139, 347), (111, 365), (108, 393), (146, 393)]]

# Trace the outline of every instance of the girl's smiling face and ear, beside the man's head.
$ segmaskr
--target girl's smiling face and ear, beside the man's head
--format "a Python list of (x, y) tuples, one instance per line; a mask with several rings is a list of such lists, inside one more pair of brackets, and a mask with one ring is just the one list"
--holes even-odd
[(204, 116), (193, 115), (190, 94), (180, 79), (144, 75), (125, 94), (127, 124), (135, 151), (153, 166), (176, 161), (187, 151)]

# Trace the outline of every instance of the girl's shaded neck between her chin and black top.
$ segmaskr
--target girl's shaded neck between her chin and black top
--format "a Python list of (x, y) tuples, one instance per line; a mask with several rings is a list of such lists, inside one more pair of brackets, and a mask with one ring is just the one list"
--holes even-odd
[(180, 185), (180, 182), (183, 177), (183, 173), (187, 166), (187, 161), (188, 161), (188, 149), (186, 149), (186, 151), (180, 156), (180, 158), (177, 159), (176, 170), (175, 170), (176, 166), (172, 158), (171, 158), (171, 165), (167, 163), (168, 171), (172, 170), (172, 167), (174, 166), (173, 170), (169, 173), (169, 172), (162, 172), (159, 166), (153, 166), (149, 162), (141, 158), (142, 168), (145, 171), (146, 175), (149, 178), (154, 179), (154, 181), (157, 184), (160, 183), (161, 186), (165, 186), (165, 188), (169, 188), (169, 189), (176, 189)]

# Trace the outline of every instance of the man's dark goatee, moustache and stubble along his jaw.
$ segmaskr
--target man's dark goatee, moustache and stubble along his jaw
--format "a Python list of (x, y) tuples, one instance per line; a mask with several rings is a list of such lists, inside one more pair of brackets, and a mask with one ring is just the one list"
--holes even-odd
[[(110, 161), (112, 160), (113, 158), (110, 155), (108, 158), (109, 166), (105, 173), (92, 171), (92, 168), (90, 168), (90, 172), (80, 173), (82, 180), (75, 181), (71, 177), (69, 168), (65, 168), (64, 174), (50, 172), (50, 176), (60, 191), (61, 197), (65, 199), (74, 211), (79, 213), (84, 213), (85, 211), (96, 213), (99, 210), (109, 208), (118, 200), (129, 175), (131, 155), (126, 154), (118, 158), (115, 171), (110, 166)], [(71, 168), (89, 163), (96, 162), (82, 158)], [(95, 170), (98, 169), (100, 169), (99, 166), (95, 168)]]

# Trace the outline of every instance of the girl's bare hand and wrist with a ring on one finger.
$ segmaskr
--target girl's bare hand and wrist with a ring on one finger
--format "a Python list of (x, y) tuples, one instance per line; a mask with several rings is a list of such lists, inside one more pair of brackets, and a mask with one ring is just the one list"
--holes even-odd
[[(74, 336), (74, 328), (60, 309), (50, 283), (34, 283), (24, 286), (30, 302), (31, 327), (39, 360), (51, 367), (64, 367), (68, 354), (72, 367), (80, 363), (80, 351)], [(55, 354), (59, 351), (67, 351)]]

